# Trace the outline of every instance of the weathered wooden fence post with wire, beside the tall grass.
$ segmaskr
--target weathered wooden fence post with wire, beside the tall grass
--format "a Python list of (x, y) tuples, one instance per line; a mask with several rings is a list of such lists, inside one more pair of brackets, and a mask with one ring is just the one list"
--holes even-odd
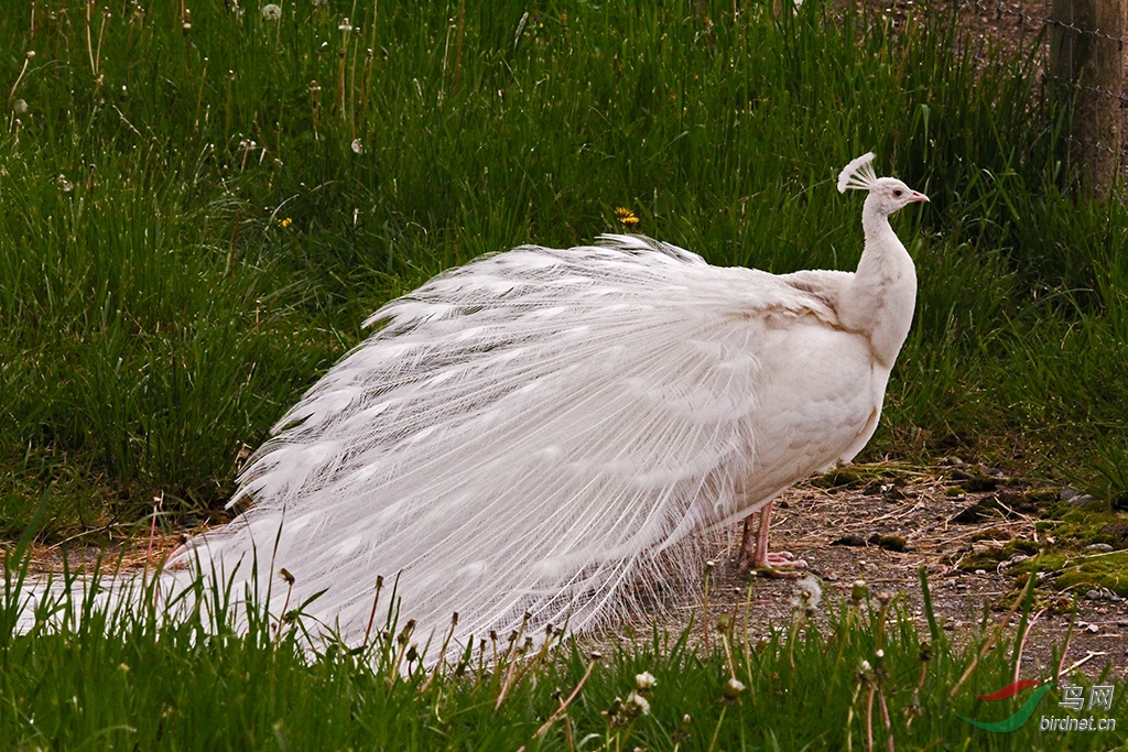
[(1126, 133), (1125, 0), (1052, 0), (1050, 72), (1073, 108), (1069, 154), (1083, 191), (1105, 195), (1117, 177)]

